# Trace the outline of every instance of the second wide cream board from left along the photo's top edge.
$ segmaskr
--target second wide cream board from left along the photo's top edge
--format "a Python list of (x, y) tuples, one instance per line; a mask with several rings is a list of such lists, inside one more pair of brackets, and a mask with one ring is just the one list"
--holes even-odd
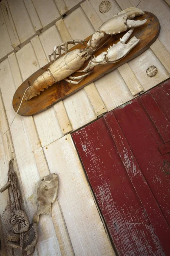
[(43, 28), (49, 27), (60, 17), (54, 0), (32, 0)]

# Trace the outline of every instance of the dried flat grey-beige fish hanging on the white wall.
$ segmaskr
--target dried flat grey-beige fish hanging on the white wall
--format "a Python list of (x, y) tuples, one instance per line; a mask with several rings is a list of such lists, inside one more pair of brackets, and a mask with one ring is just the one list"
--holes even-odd
[(57, 197), (57, 190), (58, 177), (56, 173), (49, 174), (36, 183), (33, 195), (28, 198), (37, 210), (33, 217), (33, 223), (38, 224), (42, 213), (51, 215), (51, 205)]

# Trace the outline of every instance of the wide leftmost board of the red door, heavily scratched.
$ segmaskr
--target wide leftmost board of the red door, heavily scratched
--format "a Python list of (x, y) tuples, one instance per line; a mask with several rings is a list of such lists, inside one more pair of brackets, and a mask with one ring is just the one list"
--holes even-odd
[(119, 255), (164, 255), (105, 120), (72, 136)]

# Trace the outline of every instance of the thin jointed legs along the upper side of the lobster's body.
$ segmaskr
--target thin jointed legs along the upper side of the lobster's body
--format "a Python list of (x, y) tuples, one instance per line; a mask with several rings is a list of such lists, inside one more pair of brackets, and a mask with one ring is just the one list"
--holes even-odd
[[(52, 64), (51, 56), (54, 56), (54, 61), (56, 61), (56, 55), (59, 55), (59, 58), (61, 57), (61, 55), (62, 55), (61, 50), (65, 51), (65, 54), (68, 53), (68, 44), (79, 43), (79, 44), (85, 45), (84, 42), (87, 42), (87, 41), (86, 40), (69, 40), (69, 41), (65, 41), (65, 42), (59, 44), (58, 46), (57, 45), (54, 46), (53, 52), (51, 52), (48, 55), (50, 63)], [(64, 48), (62, 46), (64, 46)], [(58, 53), (56, 52), (57, 49), (58, 49)]]

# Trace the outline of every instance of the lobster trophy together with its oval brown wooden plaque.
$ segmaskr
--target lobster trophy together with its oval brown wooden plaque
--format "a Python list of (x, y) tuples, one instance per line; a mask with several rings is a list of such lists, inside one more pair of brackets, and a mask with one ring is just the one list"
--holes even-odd
[[(134, 20), (137, 16), (139, 20)], [(13, 98), (14, 110), (18, 110), (22, 97), (19, 114), (28, 116), (45, 110), (144, 52), (156, 40), (159, 30), (155, 15), (131, 7), (107, 20), (86, 40), (71, 40), (55, 46), (49, 55), (51, 65), (38, 70), (17, 89)], [(86, 41), (86, 46), (80, 45)], [(68, 51), (68, 44), (75, 43), (80, 44)], [(63, 55), (61, 50), (65, 51)], [(96, 57), (92, 58), (94, 52)], [(38, 96), (37, 99), (35, 96)]]

